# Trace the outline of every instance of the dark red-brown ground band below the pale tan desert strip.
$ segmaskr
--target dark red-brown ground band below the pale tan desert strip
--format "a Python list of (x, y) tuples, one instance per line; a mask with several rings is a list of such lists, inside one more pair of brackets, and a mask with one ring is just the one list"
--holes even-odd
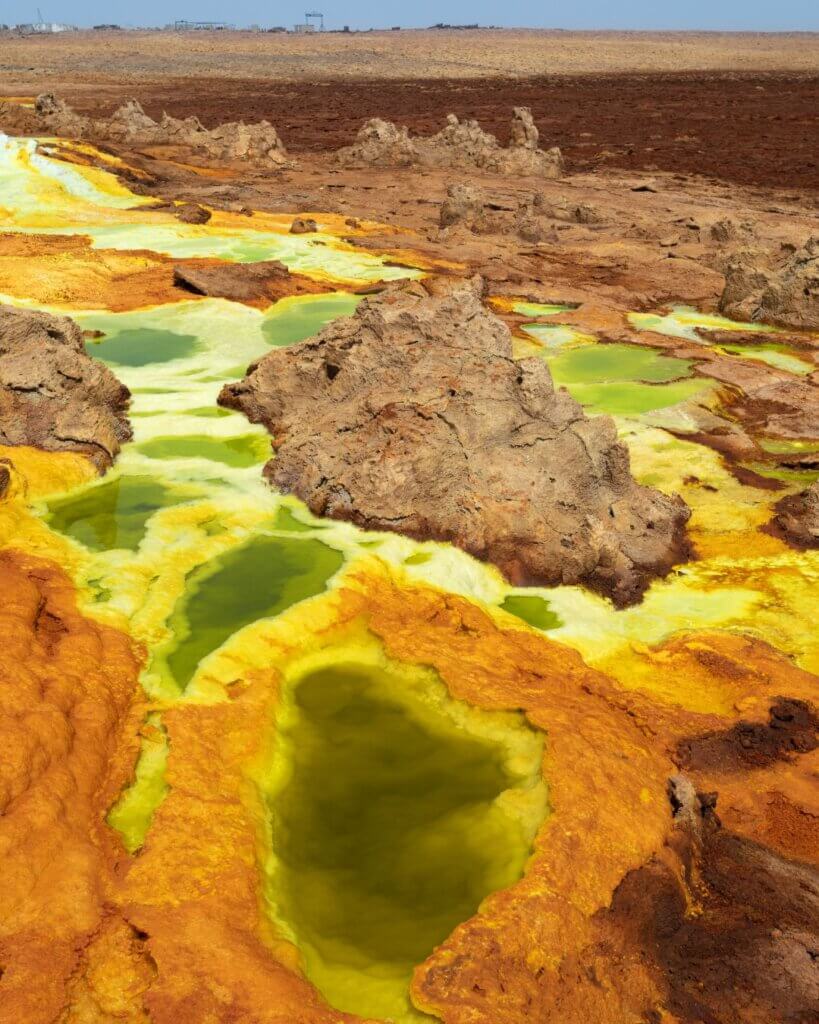
[(110, 113), (136, 94), (145, 110), (208, 126), (266, 118), (295, 153), (348, 144), (381, 117), (437, 131), (450, 111), (506, 141), (514, 105), (530, 106), (545, 145), (572, 170), (601, 164), (677, 171), (746, 185), (819, 191), (819, 75), (607, 75), (412, 81), (186, 79), (101, 86), (69, 100)]

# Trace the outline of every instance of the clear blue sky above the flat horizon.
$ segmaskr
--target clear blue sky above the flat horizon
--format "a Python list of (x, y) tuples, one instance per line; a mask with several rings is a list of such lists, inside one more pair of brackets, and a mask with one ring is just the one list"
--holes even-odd
[[(0, 23), (37, 20), (78, 26), (98, 23), (165, 25), (177, 18), (229, 20), (238, 26), (292, 27), (304, 20), (302, 0), (0, 0)], [(554, 29), (707, 29), (723, 31), (819, 31), (819, 0), (320, 0), (328, 28), (421, 28), (437, 22)], [(817, 60), (819, 63), (819, 59)]]

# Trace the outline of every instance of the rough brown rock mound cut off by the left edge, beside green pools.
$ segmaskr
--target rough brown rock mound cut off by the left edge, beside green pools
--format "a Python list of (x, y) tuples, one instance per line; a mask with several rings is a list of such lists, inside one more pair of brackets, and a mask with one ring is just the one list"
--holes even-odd
[(106, 469), (131, 438), (129, 399), (74, 321), (0, 305), (0, 444), (81, 452)]

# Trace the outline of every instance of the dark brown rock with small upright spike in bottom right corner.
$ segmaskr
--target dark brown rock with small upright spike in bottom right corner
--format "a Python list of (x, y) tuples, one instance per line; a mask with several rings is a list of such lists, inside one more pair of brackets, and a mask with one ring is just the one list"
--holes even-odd
[(688, 779), (673, 778), (670, 796), (665, 849), (597, 915), (609, 970), (642, 959), (675, 1020), (814, 1020), (819, 872), (723, 828), (716, 794), (695, 793)]

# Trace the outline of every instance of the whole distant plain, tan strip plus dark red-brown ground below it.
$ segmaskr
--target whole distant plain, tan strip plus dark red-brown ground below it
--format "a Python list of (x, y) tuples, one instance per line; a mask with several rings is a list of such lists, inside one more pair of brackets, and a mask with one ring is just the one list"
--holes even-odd
[(0, 95), (51, 90), (107, 115), (267, 119), (294, 153), (348, 144), (368, 118), (506, 141), (529, 106), (571, 171), (664, 170), (819, 196), (819, 33), (540, 30), (0, 34)]

